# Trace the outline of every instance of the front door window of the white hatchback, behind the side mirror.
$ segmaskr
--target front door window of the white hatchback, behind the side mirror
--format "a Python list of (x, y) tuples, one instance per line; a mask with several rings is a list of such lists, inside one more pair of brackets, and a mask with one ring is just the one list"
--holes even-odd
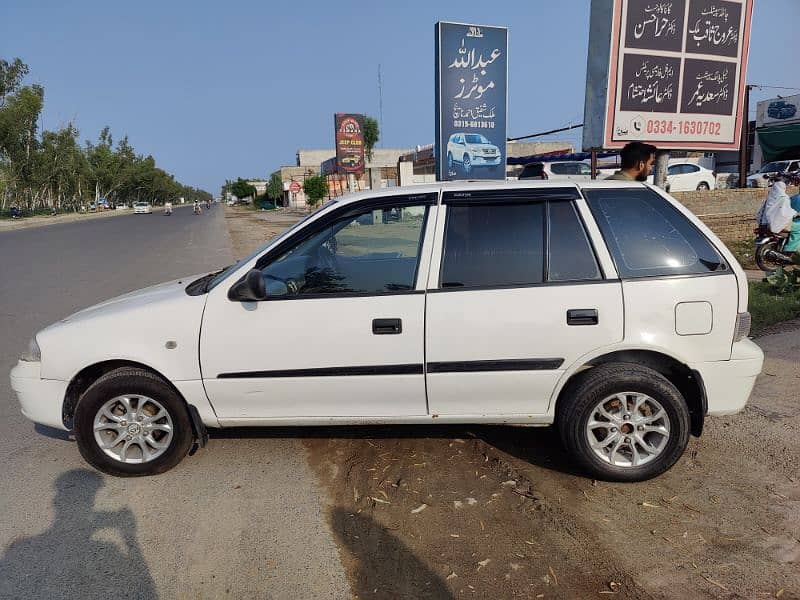
[(414, 288), (425, 206), (351, 214), (263, 269), (272, 296), (385, 293)]

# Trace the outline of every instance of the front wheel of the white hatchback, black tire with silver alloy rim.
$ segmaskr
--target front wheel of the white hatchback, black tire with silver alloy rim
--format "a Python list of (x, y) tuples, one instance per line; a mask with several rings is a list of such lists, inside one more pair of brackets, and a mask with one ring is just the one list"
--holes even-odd
[[(125, 409), (122, 398), (132, 410)], [(168, 471), (186, 456), (194, 439), (189, 411), (178, 393), (154, 373), (133, 367), (115, 369), (89, 386), (75, 408), (74, 429), (84, 460), (118, 477)], [(152, 458), (145, 460), (143, 447)]]

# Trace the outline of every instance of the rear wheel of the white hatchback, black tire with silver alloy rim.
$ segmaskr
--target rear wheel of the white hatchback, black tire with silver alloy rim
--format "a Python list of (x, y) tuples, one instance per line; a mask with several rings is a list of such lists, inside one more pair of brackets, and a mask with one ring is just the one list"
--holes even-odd
[[(643, 397), (647, 400), (639, 406)], [(598, 411), (601, 406), (613, 419)], [(558, 402), (556, 424), (573, 459), (605, 481), (645, 481), (667, 471), (686, 449), (691, 429), (677, 388), (657, 371), (631, 363), (609, 363), (578, 375)]]

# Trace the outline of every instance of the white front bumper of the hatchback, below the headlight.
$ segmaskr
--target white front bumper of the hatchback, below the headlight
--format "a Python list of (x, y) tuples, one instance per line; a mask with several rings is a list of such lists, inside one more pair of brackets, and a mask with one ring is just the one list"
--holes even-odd
[(17, 394), (22, 414), (34, 423), (67, 428), (61, 416), (67, 382), (41, 378), (41, 363), (20, 360), (11, 369), (11, 389)]

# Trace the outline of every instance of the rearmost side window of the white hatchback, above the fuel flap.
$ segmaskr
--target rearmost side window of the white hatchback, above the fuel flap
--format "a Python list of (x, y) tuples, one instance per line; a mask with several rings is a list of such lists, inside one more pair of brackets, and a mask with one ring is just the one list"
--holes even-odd
[(585, 190), (621, 277), (708, 273), (725, 262), (700, 231), (648, 189)]

